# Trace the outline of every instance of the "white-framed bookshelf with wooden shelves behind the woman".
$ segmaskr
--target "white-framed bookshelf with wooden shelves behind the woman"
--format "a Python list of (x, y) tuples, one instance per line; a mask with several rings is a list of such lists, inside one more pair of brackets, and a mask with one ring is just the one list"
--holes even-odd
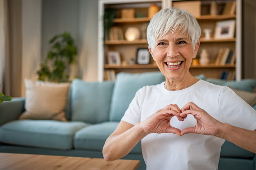
[[(170, 0), (170, 4), (166, 3), (164, 0), (146, 0), (141, 2), (140, 0), (130, 0), (127, 2), (126, 0), (116, 0), (115, 2), (112, 0), (100, 0), (101, 7), (114, 7), (117, 8), (117, 10), (121, 10), (124, 8), (134, 8), (136, 10), (137, 6), (136, 3), (139, 4), (148, 4), (150, 6), (151, 3), (158, 3), (159, 7), (169, 7), (168, 5), (171, 5), (171, 2), (174, 0)], [(196, 17), (198, 20), (198, 23), (202, 30), (202, 36), (200, 38), (200, 48), (198, 50), (198, 55), (200, 55), (200, 52), (202, 49), (206, 49), (206, 51), (209, 53), (209, 59), (210, 63), (213, 64), (206, 64), (206, 65), (191, 65), (190, 71), (192, 75), (198, 75), (205, 74), (206, 77), (211, 78), (219, 78), (219, 75), (223, 70), (228, 71), (235, 71), (237, 80), (240, 80), (241, 78), (241, 28), (239, 26), (241, 13), (240, 11), (236, 11), (236, 14), (219, 14), (217, 15), (209, 15), (209, 6), (210, 3), (213, 0), (209, 0), (207, 2), (201, 3), (202, 13), (200, 16)], [(225, 4), (229, 2), (229, 0), (223, 0), (221, 2), (217, 2), (218, 6), (223, 8)], [(237, 6), (239, 6), (239, 1), (236, 0)], [(166, 6), (167, 5), (167, 6)], [(142, 8), (142, 7), (141, 7)], [(146, 7), (147, 8), (147, 7)], [(238, 8), (237, 8), (238, 9)], [(143, 10), (143, 9), (140, 9)], [(145, 10), (145, 9), (144, 9)], [(146, 9), (147, 10), (147, 9)], [(205, 12), (208, 11), (208, 12)], [(99, 13), (99, 16), (101, 14)], [(119, 16), (120, 17), (120, 16)], [(150, 22), (149, 17), (146, 17), (144, 15), (141, 18), (116, 18), (113, 20), (114, 26), (120, 27), (123, 31), (123, 34), (129, 27), (137, 27), (138, 29), (142, 29), (142, 26), (144, 27)], [(214, 39), (214, 32), (215, 32), (215, 25), (218, 21), (222, 20), (231, 20), (234, 19), (236, 22), (235, 27), (235, 36), (234, 38), (227, 38), (227, 39)], [(99, 23), (99, 27), (101, 27), (102, 23)], [(204, 38), (204, 29), (211, 29), (211, 38), (205, 39)], [(115, 72), (115, 74), (125, 71), (130, 73), (141, 73), (146, 71), (152, 71), (152, 70), (159, 70), (157, 68), (157, 65), (155, 62), (153, 62), (153, 59), (151, 58), (151, 64), (121, 64), (121, 65), (113, 65), (113, 64), (107, 64), (107, 52), (108, 51), (118, 51), (121, 56), (121, 63), (129, 63), (130, 59), (136, 60), (136, 50), (139, 48), (147, 48), (147, 39), (145, 38), (145, 35), (142, 39), (134, 40), (134, 41), (127, 41), (127, 40), (103, 40), (103, 36), (101, 36), (103, 31), (99, 31), (99, 39), (102, 40), (99, 42), (100, 48), (99, 48), (99, 80), (103, 80), (103, 73), (104, 70), (112, 70)], [(112, 38), (115, 39), (115, 38)], [(102, 44), (102, 46), (101, 46)], [(215, 60), (217, 58), (218, 52), (221, 48), (229, 48), (231, 50), (235, 51), (236, 59), (235, 64), (215, 64)]]

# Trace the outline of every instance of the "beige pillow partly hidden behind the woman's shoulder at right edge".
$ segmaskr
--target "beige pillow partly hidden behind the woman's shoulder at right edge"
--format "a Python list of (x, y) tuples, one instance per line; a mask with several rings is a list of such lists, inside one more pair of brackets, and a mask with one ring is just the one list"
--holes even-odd
[(246, 101), (246, 103), (248, 103), (250, 106), (254, 106), (256, 104), (256, 93), (246, 92), (232, 87), (229, 88), (231, 88), (239, 97)]

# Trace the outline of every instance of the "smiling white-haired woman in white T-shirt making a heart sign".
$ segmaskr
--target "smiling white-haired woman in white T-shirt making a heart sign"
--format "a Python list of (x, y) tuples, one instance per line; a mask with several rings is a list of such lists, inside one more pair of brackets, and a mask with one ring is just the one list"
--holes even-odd
[[(103, 155), (115, 160), (141, 140), (147, 169), (217, 169), (225, 140), (256, 152), (256, 112), (230, 88), (193, 77), (200, 27), (187, 11), (165, 8), (147, 28), (149, 51), (166, 77), (138, 90)], [(175, 118), (177, 117), (177, 118)]]

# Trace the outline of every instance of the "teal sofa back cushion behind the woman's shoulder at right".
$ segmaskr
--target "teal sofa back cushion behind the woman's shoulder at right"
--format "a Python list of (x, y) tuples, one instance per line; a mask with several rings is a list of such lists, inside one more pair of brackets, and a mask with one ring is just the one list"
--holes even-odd
[(227, 81), (216, 78), (206, 78), (206, 81), (220, 86), (230, 86), (235, 89), (244, 90), (247, 92), (254, 92), (256, 86), (256, 80), (250, 78), (243, 79), (241, 81)]

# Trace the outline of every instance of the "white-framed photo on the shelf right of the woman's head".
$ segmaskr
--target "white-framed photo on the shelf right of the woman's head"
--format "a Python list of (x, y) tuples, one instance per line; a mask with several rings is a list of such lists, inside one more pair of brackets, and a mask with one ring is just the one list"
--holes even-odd
[(233, 38), (235, 33), (235, 20), (219, 21), (215, 26), (215, 39)]

